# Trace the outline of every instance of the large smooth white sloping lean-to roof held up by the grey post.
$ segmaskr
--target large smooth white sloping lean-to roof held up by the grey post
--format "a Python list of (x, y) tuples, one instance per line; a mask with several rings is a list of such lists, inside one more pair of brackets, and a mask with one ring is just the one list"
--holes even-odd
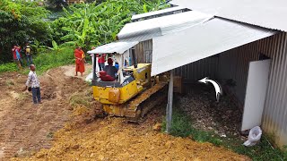
[(275, 33), (273, 30), (214, 18), (187, 30), (153, 38), (152, 75), (170, 71)]

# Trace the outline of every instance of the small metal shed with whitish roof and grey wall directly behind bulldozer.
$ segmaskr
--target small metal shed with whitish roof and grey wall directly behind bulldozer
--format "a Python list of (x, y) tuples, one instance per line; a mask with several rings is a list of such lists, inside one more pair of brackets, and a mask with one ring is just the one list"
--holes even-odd
[[(157, 12), (148, 15), (153, 14), (157, 14)], [(213, 15), (189, 11), (145, 21), (135, 21), (127, 23), (117, 34), (117, 38), (120, 41), (140, 41), (135, 46), (137, 62), (152, 63), (152, 38), (187, 29), (211, 18)]]

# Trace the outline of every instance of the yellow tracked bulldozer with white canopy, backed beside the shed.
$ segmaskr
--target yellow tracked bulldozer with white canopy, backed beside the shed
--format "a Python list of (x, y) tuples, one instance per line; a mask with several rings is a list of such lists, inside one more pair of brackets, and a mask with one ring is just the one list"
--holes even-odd
[[(137, 64), (135, 48), (118, 51), (122, 42), (110, 43), (89, 51), (90, 54), (113, 56), (118, 65), (116, 80), (103, 80), (97, 72), (97, 58), (93, 56), (93, 79), (91, 81), (93, 97), (102, 106), (98, 114), (126, 117), (131, 122), (138, 122), (152, 107), (167, 100), (167, 76), (151, 76), (152, 64)], [(133, 45), (133, 44), (132, 44)], [(113, 48), (113, 49), (111, 49)], [(131, 51), (134, 65), (126, 66), (125, 55)]]

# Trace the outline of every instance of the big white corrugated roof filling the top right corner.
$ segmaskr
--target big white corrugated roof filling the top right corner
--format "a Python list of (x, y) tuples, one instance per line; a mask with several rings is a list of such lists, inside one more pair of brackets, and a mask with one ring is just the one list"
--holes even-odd
[(173, 0), (170, 4), (268, 29), (287, 31), (286, 0)]

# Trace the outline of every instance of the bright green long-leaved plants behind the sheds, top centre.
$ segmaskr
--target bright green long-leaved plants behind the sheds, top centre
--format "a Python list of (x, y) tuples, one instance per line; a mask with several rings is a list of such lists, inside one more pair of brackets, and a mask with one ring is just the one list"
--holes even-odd
[(167, 7), (162, 0), (107, 0), (100, 4), (77, 4), (64, 8), (64, 16), (53, 23), (57, 43), (85, 49), (115, 40), (133, 14)]

